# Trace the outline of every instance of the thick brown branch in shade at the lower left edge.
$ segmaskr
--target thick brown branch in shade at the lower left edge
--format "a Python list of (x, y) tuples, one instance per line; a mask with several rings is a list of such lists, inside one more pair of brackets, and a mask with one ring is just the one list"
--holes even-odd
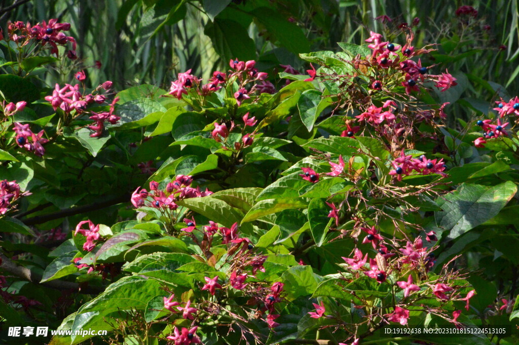
[(2, 264), (0, 268), (4, 269), (6, 272), (16, 275), (17, 277), (29, 281), (31, 283), (40, 284), (46, 287), (54, 288), (57, 290), (76, 290), (80, 293), (97, 295), (103, 291), (100, 287), (95, 286), (87, 286), (80, 287), (79, 284), (73, 282), (67, 282), (63, 280), (51, 280), (49, 282), (40, 283), (42, 280), (42, 276), (31, 271), (30, 269), (20, 266), (16, 263), (13, 263), (7, 256), (4, 254), (0, 254), (0, 261)]

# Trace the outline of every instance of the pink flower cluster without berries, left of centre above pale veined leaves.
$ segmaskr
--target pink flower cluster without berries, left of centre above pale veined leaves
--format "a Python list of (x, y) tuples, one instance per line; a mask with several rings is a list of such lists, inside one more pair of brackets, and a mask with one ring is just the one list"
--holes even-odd
[(144, 188), (141, 189), (141, 187), (133, 191), (131, 203), (136, 208), (148, 206), (156, 209), (176, 210), (177, 204), (175, 201), (177, 200), (206, 197), (213, 194), (208, 189), (200, 191), (200, 187), (191, 187), (192, 182), (192, 176), (178, 175), (174, 181), (167, 184), (165, 189), (160, 190), (158, 189), (158, 183), (152, 181), (149, 183), (149, 192)]

